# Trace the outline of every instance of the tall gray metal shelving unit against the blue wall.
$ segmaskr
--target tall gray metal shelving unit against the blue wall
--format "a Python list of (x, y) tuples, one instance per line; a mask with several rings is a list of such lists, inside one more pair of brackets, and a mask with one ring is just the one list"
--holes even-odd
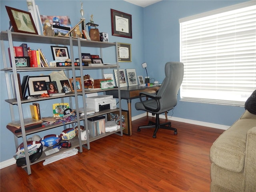
[[(84, 89), (82, 89), (82, 92), (77, 92), (76, 87), (75, 92), (72, 92), (70, 94), (65, 94), (62, 96), (53, 96), (53, 97), (47, 97), (47, 98), (36, 98), (34, 100), (22, 100), (20, 98), (20, 94), (12, 95), (12, 90), (11, 90), (11, 80), (9, 77), (9, 74), (13, 74), (14, 76), (14, 82), (18, 82), (18, 75), (17, 72), (33, 72), (33, 71), (58, 71), (58, 70), (66, 70), (67, 72), (72, 72), (72, 76), (75, 78), (76, 70), (80, 70), (80, 75), (81, 77), (84, 75), (83, 71), (84, 70), (90, 70), (90, 69), (101, 69), (102, 70), (102, 75), (103, 75), (103, 70), (104, 69), (117, 69), (119, 68), (118, 64), (118, 54), (117, 54), (117, 43), (109, 43), (109, 42), (96, 42), (96, 41), (88, 41), (88, 40), (83, 40), (80, 38), (73, 38), (73, 37), (66, 37), (66, 36), (60, 36), (60, 37), (51, 37), (51, 36), (42, 36), (42, 35), (34, 35), (34, 34), (25, 34), (25, 33), (17, 33), (17, 32), (11, 32), (10, 30), (8, 31), (2, 31), (0, 33), (0, 41), (1, 41), (1, 50), (2, 50), (2, 56), (3, 56), (3, 61), (4, 61), (4, 68), (1, 69), (1, 71), (5, 72), (5, 77), (6, 77), (6, 84), (7, 84), (7, 92), (8, 92), (8, 99), (5, 101), (9, 103), (10, 106), (10, 112), (11, 112), (11, 118), (12, 122), (15, 121), (15, 114), (14, 114), (14, 105), (18, 106), (18, 114), (19, 114), (19, 120), (20, 120), (20, 125), (21, 125), (21, 133), (15, 134), (14, 133), (14, 142), (16, 145), (16, 148), (18, 147), (18, 138), (22, 137), (23, 143), (24, 143), (24, 150), (25, 150), (25, 157), (26, 157), (26, 166), (23, 166), (22, 168), (25, 168), (28, 174), (31, 174), (31, 168), (30, 165), (35, 164), (37, 162), (40, 162), (42, 160), (45, 160), (47, 158), (50, 158), (51, 156), (54, 156), (56, 154), (62, 153), (66, 150), (70, 150), (71, 148), (61, 148), (60, 152), (54, 153), (52, 155), (46, 156), (43, 152), (42, 156), (33, 163), (30, 163), (29, 160), (29, 155), (28, 155), (28, 147), (27, 147), (27, 138), (26, 136), (29, 134), (34, 134), (37, 132), (41, 132), (44, 130), (56, 128), (58, 126), (63, 126), (63, 124), (54, 124), (52, 126), (45, 126), (45, 127), (40, 127), (36, 128), (33, 130), (25, 130), (24, 126), (24, 116), (23, 116), (23, 111), (22, 111), (22, 104), (24, 103), (29, 103), (29, 102), (37, 102), (37, 101), (44, 101), (44, 100), (50, 100), (50, 99), (61, 99), (63, 101), (63, 98), (69, 97), (70, 102), (71, 102), (71, 97), (75, 98), (75, 104), (76, 104), (76, 110), (78, 111), (78, 97), (82, 97), (83, 100), (83, 105), (84, 105), (84, 110), (85, 110), (85, 116), (80, 117), (77, 116), (77, 124), (78, 127), (80, 127), (80, 121), (84, 121), (84, 125), (86, 128), (86, 135), (88, 136), (88, 123), (87, 123), (87, 114), (86, 114), (86, 97), (85, 95), (88, 93), (92, 92), (104, 92), (106, 90), (95, 90), (95, 91), (90, 91), (87, 92)], [(6, 50), (4, 48), (4, 41), (8, 41), (9, 47), (10, 47), (10, 56), (11, 56), (11, 61), (12, 63), (15, 63), (14, 59), (14, 51), (13, 51), (13, 42), (26, 42), (26, 43), (38, 43), (38, 44), (62, 44), (62, 45), (68, 45), (70, 46), (71, 50), (71, 60), (72, 60), (72, 66), (70, 67), (42, 67), (42, 68), (32, 68), (32, 67), (27, 67), (27, 68), (18, 68), (16, 65), (13, 65), (12, 67), (8, 66), (7, 58), (8, 58), (8, 53), (6, 54)], [(112, 65), (106, 65), (106, 66), (79, 66), (75, 67), (74, 66), (74, 52), (73, 49), (74, 47), (78, 47), (78, 52), (80, 55), (80, 60), (81, 58), (81, 47), (91, 47), (91, 48), (100, 48), (100, 53), (102, 54), (102, 48), (108, 48), (108, 47), (115, 47), (116, 48), (116, 61), (117, 65), (112, 66)], [(10, 85), (10, 86), (9, 86)], [(15, 92), (19, 93), (19, 87), (17, 83), (14, 86)], [(113, 89), (108, 89), (108, 90), (113, 90)], [(120, 89), (118, 88), (119, 94), (120, 94)], [(119, 106), (121, 104), (121, 99), (119, 98)], [(96, 112), (93, 116), (98, 116), (98, 115), (103, 115), (103, 114), (108, 114), (110, 112), (116, 112), (119, 111), (120, 115), (122, 114), (121, 106), (120, 108), (114, 109), (114, 110), (104, 110), (100, 112)], [(90, 117), (93, 117), (90, 116)], [(71, 124), (72, 122), (67, 122), (66, 124)], [(85, 147), (88, 150), (90, 149), (90, 142), (106, 137), (110, 134), (120, 134), (122, 136), (122, 129), (118, 129), (117, 131), (114, 132), (107, 132), (105, 134), (102, 134), (100, 136), (97, 136), (95, 138), (92, 137), (87, 137), (87, 140), (82, 141), (79, 137), (75, 137), (72, 139), (72, 148), (77, 148), (79, 147), (80, 152), (82, 152), (82, 148)], [(78, 135), (81, 134), (80, 129), (78, 129)], [(49, 149), (47, 149), (49, 150)]]

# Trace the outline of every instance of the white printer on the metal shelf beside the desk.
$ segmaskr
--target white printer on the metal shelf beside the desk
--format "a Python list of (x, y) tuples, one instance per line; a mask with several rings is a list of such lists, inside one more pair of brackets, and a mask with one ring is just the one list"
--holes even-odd
[(95, 112), (106, 109), (116, 109), (116, 99), (112, 95), (98, 95), (86, 98), (86, 105)]

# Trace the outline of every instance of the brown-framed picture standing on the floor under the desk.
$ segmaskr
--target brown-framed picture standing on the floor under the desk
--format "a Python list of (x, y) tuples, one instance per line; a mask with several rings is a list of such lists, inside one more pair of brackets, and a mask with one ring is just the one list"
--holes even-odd
[[(122, 110), (121, 120), (122, 120), (123, 134), (130, 135), (129, 112), (127, 110)], [(120, 125), (119, 111), (109, 113), (108, 114), (108, 121), (115, 121), (116, 124)]]

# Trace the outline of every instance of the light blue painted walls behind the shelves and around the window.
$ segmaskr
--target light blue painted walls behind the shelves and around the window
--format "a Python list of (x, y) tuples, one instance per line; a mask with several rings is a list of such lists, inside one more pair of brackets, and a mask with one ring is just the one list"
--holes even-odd
[[(125, 1), (83, 1), (84, 17), (86, 22), (90, 15), (94, 15), (94, 22), (99, 24), (100, 32), (107, 32), (109, 42), (122, 42), (132, 45), (132, 62), (120, 63), (120, 68), (135, 68), (136, 74), (146, 76), (145, 70), (141, 67), (142, 62), (148, 64), (148, 75), (161, 82), (164, 78), (164, 64), (168, 61), (179, 61), (179, 22), (178, 19), (240, 3), (241, 1), (162, 1), (146, 8), (127, 3)], [(218, 2), (218, 3), (217, 3)], [(68, 15), (71, 24), (74, 26), (80, 20), (80, 1), (71, 0), (36, 0), (40, 14), (43, 15)], [(0, 30), (7, 30), (9, 17), (5, 6), (28, 10), (25, 0), (0, 0)], [(118, 10), (132, 15), (132, 39), (112, 36), (110, 9)], [(18, 46), (20, 43), (17, 42)], [(15, 45), (15, 44), (14, 44)], [(32, 48), (42, 48), (48, 61), (52, 60), (50, 45), (30, 44)], [(7, 46), (8, 47), (8, 46)], [(96, 54), (97, 50), (85, 49)], [(112, 54), (108, 51), (104, 54), (103, 61), (111, 62)], [(2, 55), (0, 68), (3, 68)], [(50, 72), (44, 73), (48, 75)], [(112, 73), (112, 70), (106, 71)], [(36, 73), (28, 75), (36, 76)], [(99, 78), (98, 72), (88, 71), (93, 78)], [(22, 76), (27, 74), (21, 74)], [(154, 80), (152, 80), (154, 81)], [(6, 129), (6, 124), (11, 121), (9, 105), (5, 102), (8, 99), (4, 72), (0, 72), (0, 162), (13, 157), (16, 152), (13, 134)], [(132, 101), (132, 116), (141, 114), (136, 111)], [(59, 101), (56, 101), (59, 102)], [(41, 106), (41, 105), (40, 105)], [(122, 108), (127, 109), (126, 101), (122, 101)], [(52, 102), (42, 102), (42, 114), (52, 113)], [(194, 102), (178, 102), (174, 109), (175, 117), (211, 122), (216, 124), (231, 125), (244, 111), (243, 107), (224, 106), (214, 104), (202, 104)], [(30, 116), (28, 105), (25, 105), (24, 117)], [(46, 134), (58, 134), (62, 128), (38, 133), (40, 136)], [(30, 137), (30, 136), (28, 136)], [(22, 142), (19, 138), (19, 143)]]

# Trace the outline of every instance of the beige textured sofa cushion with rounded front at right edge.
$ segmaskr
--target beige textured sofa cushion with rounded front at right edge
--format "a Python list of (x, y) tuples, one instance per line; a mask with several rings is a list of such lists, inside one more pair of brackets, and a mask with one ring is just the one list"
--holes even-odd
[(240, 172), (244, 168), (246, 135), (256, 119), (239, 119), (212, 144), (211, 161), (221, 168)]

